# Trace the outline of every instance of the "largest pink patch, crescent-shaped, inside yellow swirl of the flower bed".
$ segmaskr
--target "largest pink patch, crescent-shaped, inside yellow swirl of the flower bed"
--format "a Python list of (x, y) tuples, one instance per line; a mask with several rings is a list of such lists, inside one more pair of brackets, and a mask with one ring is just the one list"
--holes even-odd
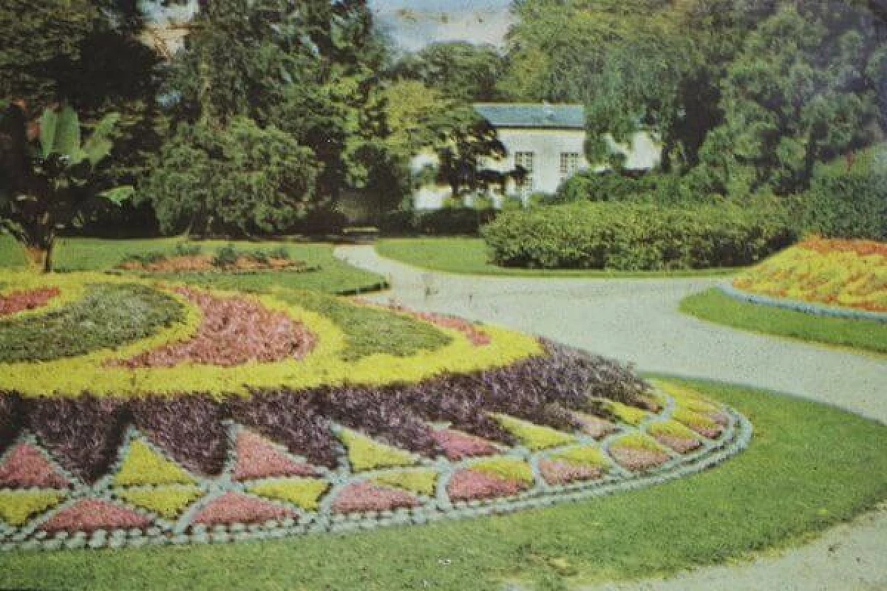
[(194, 363), (230, 367), (249, 361), (304, 359), (314, 349), (315, 335), (282, 312), (270, 311), (247, 298), (220, 298), (191, 288), (176, 291), (203, 312), (197, 335), (114, 365), (135, 368)]

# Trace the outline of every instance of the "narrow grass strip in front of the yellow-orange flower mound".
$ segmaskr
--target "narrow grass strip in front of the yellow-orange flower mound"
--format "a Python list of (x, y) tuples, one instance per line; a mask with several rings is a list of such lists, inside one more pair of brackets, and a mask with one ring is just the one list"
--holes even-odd
[(887, 353), (887, 325), (869, 320), (825, 318), (773, 306), (740, 302), (718, 289), (687, 297), (680, 311), (703, 320), (766, 335)]

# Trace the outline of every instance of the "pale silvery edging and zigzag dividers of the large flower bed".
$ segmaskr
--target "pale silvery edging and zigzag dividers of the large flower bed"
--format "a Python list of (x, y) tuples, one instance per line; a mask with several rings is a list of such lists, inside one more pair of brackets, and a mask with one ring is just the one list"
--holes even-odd
[[(677, 402), (671, 396), (666, 396), (666, 405), (661, 414), (651, 415), (647, 421), (639, 425), (640, 432), (646, 432), (649, 424), (661, 421), (663, 416), (671, 415)], [(67, 500), (63, 500), (57, 507), (32, 518), (20, 528), (14, 528), (0, 522), (0, 551), (12, 550), (57, 550), (62, 548), (123, 548), (141, 547), (145, 545), (183, 545), (191, 543), (225, 543), (241, 540), (271, 540), (285, 538), (294, 535), (318, 532), (357, 532), (373, 530), (379, 527), (393, 525), (427, 524), (444, 519), (465, 519), (476, 516), (501, 515), (525, 508), (542, 508), (556, 503), (585, 500), (597, 496), (626, 492), (643, 487), (658, 485), (669, 480), (689, 476), (704, 469), (710, 469), (723, 461), (728, 460), (737, 453), (741, 453), (750, 443), (752, 437), (751, 423), (742, 414), (733, 409), (723, 407), (727, 424), (717, 440), (705, 440), (702, 447), (695, 452), (679, 454), (672, 453), (671, 460), (666, 461), (657, 469), (643, 472), (629, 472), (616, 464), (610, 467), (608, 474), (594, 480), (576, 482), (568, 485), (548, 485), (542, 477), (539, 469), (539, 461), (544, 460), (556, 450), (546, 450), (530, 453), (526, 448), (519, 446), (509, 450), (504, 456), (522, 461), (527, 461), (536, 479), (535, 484), (529, 490), (515, 494), (511, 497), (492, 500), (459, 500), (451, 502), (442, 493), (446, 491), (452, 475), (459, 469), (470, 469), (477, 462), (483, 462), (484, 458), (469, 458), (463, 461), (446, 461), (442, 458), (422, 459), (420, 465), (425, 468), (438, 470), (437, 494), (435, 497), (419, 495), (421, 505), (418, 508), (401, 508), (383, 511), (368, 511), (365, 513), (352, 513), (347, 515), (334, 514), (332, 506), (337, 494), (345, 487), (359, 482), (372, 482), (373, 476), (384, 472), (392, 472), (397, 469), (374, 470), (361, 474), (351, 475), (348, 470), (319, 469), (331, 483), (330, 490), (320, 502), (318, 512), (308, 512), (295, 509), (293, 505), (285, 502), (267, 500), (264, 502), (285, 508), (294, 513), (297, 518), (282, 518), (269, 520), (263, 524), (217, 524), (212, 526), (192, 524), (192, 520), (208, 504), (222, 498), (225, 494), (239, 493), (251, 495), (248, 492), (249, 484), (233, 482), (230, 475), (235, 468), (236, 458), (232, 451), (229, 452), (223, 477), (218, 479), (206, 479), (199, 483), (202, 497), (192, 503), (176, 520), (164, 520), (153, 518), (153, 515), (144, 509), (125, 503), (120, 496), (112, 491), (113, 475), (122, 465), (123, 458), (127, 456), (129, 447), (133, 441), (144, 440), (136, 429), (130, 428), (119, 448), (117, 461), (96, 485), (75, 486), (75, 490)], [(235, 423), (229, 426), (232, 434), (241, 427)], [(600, 446), (607, 449), (624, 435), (624, 431), (610, 434), (600, 439)], [(583, 445), (593, 441), (593, 437), (578, 436), (577, 444)], [(586, 440), (587, 439), (587, 440)], [(20, 436), (17, 441), (36, 443), (32, 435)], [(11, 449), (15, 444), (11, 445)], [(149, 444), (150, 445), (150, 444)], [(162, 453), (160, 448), (151, 445), (154, 451)], [(563, 448), (559, 448), (563, 449)], [(5, 455), (5, 454), (4, 454)], [(342, 460), (344, 460), (342, 458)], [(54, 463), (54, 462), (53, 462)], [(59, 467), (64, 476), (73, 483), (78, 483), (76, 477)], [(261, 483), (270, 479), (257, 480)], [(99, 490), (101, 489), (101, 490)], [(106, 490), (105, 490), (106, 489)], [(9, 490), (9, 489), (6, 489)], [(22, 489), (12, 489), (13, 491)], [(29, 490), (29, 489), (27, 489)], [(57, 532), (54, 534), (42, 532), (41, 525), (52, 519), (59, 512), (75, 506), (85, 498), (110, 500), (122, 508), (130, 509), (139, 516), (150, 516), (153, 525), (145, 528), (130, 528), (118, 530), (97, 529), (93, 532)], [(259, 499), (260, 497), (255, 497)]]

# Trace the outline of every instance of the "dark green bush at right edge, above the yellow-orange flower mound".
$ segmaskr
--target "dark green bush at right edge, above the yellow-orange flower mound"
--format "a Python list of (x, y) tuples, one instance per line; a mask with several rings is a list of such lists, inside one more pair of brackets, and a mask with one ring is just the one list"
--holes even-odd
[(887, 144), (817, 165), (798, 205), (806, 232), (887, 241)]

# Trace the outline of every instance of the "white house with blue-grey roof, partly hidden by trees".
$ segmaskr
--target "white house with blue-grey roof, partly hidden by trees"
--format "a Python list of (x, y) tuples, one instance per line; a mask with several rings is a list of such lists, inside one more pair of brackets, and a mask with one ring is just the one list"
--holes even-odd
[[(498, 132), (506, 148), (501, 158), (482, 160), (481, 168), (500, 173), (522, 169), (520, 180), (509, 178), (505, 195), (491, 191), (497, 207), (505, 196), (520, 197), (526, 202), (532, 193), (554, 193), (558, 186), (580, 170), (592, 168), (585, 158), (585, 107), (582, 105), (549, 105), (529, 103), (479, 103), (475, 110)], [(654, 135), (639, 131), (631, 146), (616, 144), (605, 136), (610, 152), (623, 154), (624, 168), (654, 169), (662, 160), (662, 146)], [(413, 160), (413, 170), (435, 165), (436, 158), (422, 154)], [(604, 171), (605, 164), (595, 163), (593, 169)], [(439, 209), (451, 196), (449, 187), (425, 185), (413, 194), (416, 209)]]

